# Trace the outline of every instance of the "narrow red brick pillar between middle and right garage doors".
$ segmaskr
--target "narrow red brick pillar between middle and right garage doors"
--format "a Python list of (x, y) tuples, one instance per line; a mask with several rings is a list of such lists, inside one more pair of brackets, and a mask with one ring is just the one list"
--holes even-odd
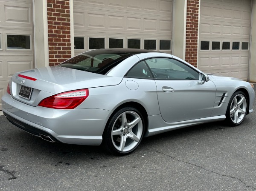
[(197, 66), (198, 10), (199, 0), (187, 0), (185, 60), (193, 66)]

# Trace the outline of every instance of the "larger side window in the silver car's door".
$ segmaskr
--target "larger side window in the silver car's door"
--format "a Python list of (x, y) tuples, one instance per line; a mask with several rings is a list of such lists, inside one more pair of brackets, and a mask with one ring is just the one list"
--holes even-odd
[(199, 73), (186, 64), (171, 58), (145, 60), (155, 79), (198, 80)]

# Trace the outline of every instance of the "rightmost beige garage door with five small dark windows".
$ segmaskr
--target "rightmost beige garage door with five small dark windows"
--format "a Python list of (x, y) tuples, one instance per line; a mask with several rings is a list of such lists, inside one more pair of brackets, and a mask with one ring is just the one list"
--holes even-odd
[(247, 80), (250, 0), (202, 0), (198, 68)]

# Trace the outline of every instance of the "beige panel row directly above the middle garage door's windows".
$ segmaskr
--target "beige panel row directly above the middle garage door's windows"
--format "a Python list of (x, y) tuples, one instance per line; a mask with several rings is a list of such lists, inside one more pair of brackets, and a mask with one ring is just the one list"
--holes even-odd
[(126, 34), (131, 32), (144, 34), (145, 31), (150, 31), (170, 35), (172, 30), (171, 17), (157, 17), (156, 19), (156, 16), (143, 14), (118, 14), (112, 11), (105, 11), (105, 14), (102, 14), (102, 11), (81, 11), (81, 9), (76, 9), (74, 12), (76, 31), (97, 30), (97, 33), (125, 32)]

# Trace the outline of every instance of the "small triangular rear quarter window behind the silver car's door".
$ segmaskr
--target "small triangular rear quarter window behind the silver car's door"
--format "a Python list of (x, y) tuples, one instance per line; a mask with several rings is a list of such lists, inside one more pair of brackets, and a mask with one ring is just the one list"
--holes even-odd
[(125, 77), (134, 78), (149, 78), (152, 79), (151, 72), (144, 61), (137, 63), (130, 71), (125, 75)]

